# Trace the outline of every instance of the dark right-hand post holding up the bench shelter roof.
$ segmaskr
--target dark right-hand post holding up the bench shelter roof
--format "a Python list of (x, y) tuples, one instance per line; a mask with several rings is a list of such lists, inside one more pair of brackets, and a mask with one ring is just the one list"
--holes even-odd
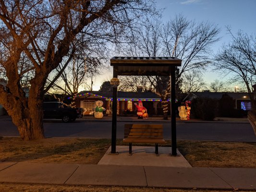
[(171, 67), (171, 155), (177, 156), (176, 114), (175, 114), (175, 67)]

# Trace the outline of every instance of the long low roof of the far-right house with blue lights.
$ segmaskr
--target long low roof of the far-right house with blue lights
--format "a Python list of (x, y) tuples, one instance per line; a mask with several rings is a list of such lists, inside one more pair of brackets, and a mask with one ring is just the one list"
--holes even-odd
[(191, 92), (184, 100), (192, 100), (196, 97), (209, 97), (212, 99), (220, 99), (224, 94), (231, 96), (236, 100), (250, 100), (248, 93), (240, 92)]

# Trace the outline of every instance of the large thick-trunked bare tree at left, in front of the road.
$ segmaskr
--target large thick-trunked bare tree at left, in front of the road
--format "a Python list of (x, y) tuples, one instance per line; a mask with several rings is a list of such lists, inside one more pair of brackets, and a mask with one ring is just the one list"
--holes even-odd
[[(86, 44), (84, 34), (93, 41), (118, 42), (152, 7), (142, 0), (0, 0), (0, 65), (8, 79), (8, 89), (0, 86), (0, 104), (22, 139), (44, 138), (44, 87), (49, 73), (72, 55), (73, 42)], [(30, 60), (23, 70), (22, 54)], [(21, 77), (28, 72), (26, 98)]]

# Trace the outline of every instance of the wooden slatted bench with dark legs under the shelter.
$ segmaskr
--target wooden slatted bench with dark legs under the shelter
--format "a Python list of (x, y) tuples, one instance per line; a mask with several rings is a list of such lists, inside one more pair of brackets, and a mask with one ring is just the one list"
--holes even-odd
[(163, 125), (154, 124), (125, 124), (124, 143), (129, 143), (129, 154), (132, 155), (132, 143), (156, 144), (155, 153), (158, 155), (158, 144), (166, 143), (163, 139)]

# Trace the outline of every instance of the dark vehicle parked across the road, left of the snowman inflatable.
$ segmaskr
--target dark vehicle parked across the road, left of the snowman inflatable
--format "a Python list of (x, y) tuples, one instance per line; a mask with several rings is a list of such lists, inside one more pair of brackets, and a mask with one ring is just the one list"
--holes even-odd
[(83, 108), (69, 108), (61, 102), (44, 102), (44, 118), (61, 119), (63, 122), (74, 121), (76, 118), (82, 118)]

